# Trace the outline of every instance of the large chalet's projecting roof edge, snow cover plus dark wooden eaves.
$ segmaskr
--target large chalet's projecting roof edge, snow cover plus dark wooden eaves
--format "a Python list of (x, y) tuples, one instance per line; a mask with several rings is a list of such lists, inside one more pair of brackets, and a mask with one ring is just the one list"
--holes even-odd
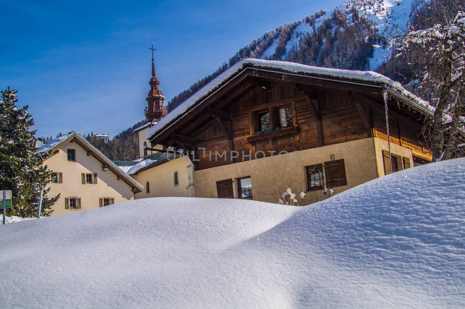
[[(375, 94), (382, 99), (383, 91), (391, 98), (401, 101), (418, 115), (431, 116), (434, 108), (427, 102), (405, 90), (401, 84), (372, 71), (350, 71), (312, 67), (281, 61), (246, 59), (226, 70), (192, 97), (181, 103), (147, 132), (147, 139), (153, 144), (166, 140), (167, 132), (189, 117), (199, 114), (219, 97), (225, 95), (231, 85), (239, 84), (247, 78), (261, 78), (270, 82), (308, 84), (321, 89), (352, 91), (354, 88)], [(396, 104), (397, 105), (397, 104)], [(162, 137), (160, 139), (160, 137)], [(162, 143), (163, 141), (161, 141)]]

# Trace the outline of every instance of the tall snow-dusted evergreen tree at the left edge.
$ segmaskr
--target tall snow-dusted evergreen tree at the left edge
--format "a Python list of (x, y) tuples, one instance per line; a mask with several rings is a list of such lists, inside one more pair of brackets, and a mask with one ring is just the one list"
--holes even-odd
[[(1, 91), (0, 100), (0, 188), (12, 190), (13, 208), (8, 215), (33, 217), (37, 215), (39, 207), (39, 193), (37, 187), (46, 186), (51, 171), (40, 163), (46, 155), (35, 154), (35, 132), (29, 128), (34, 124), (33, 118), (27, 112), (29, 106), (17, 108), (17, 91)], [(48, 198), (50, 190), (44, 189), (42, 196), (42, 216), (49, 216), (53, 204), (60, 194)]]

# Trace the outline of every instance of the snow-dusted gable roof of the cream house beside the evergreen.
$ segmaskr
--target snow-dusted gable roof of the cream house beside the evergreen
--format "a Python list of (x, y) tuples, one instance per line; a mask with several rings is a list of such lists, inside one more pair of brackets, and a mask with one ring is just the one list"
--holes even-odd
[(60, 148), (62, 145), (64, 145), (66, 142), (70, 141), (73, 138), (77, 139), (82, 145), (85, 146), (85, 148), (91, 150), (95, 155), (97, 155), (100, 158), (100, 160), (113, 167), (112, 170), (114, 173), (123, 176), (128, 182), (140, 189), (140, 191), (144, 189), (144, 187), (142, 187), (139, 182), (137, 182), (131, 176), (126, 174), (120, 167), (113, 163), (113, 161), (108, 159), (106, 155), (102, 154), (99, 149), (95, 148), (90, 142), (88, 142), (85, 138), (77, 134), (75, 131), (69, 132), (68, 134), (61, 135), (55, 138), (54, 140), (52, 140), (52, 142), (49, 142), (48, 144), (45, 144), (44, 146), (37, 149), (36, 153), (52, 152)]

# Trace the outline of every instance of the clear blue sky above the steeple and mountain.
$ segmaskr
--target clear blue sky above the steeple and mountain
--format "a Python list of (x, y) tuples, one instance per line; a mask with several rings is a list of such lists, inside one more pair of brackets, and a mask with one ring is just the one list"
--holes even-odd
[(151, 38), (166, 104), (264, 32), (340, 4), (0, 0), (0, 88), (18, 90), (37, 136), (113, 136), (144, 118)]

